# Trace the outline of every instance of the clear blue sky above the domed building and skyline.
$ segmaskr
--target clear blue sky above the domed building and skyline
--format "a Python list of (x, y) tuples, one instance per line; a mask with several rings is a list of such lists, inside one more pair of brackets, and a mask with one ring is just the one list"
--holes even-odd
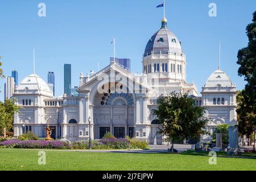
[[(38, 16), (38, 4), (46, 4), (46, 17)], [(159, 30), (163, 0), (27, 0), (0, 1), (0, 55), (6, 76), (16, 69), (19, 82), (32, 73), (33, 48), (36, 74), (47, 81), (55, 72), (56, 95), (64, 90), (64, 64), (72, 64), (72, 87), (79, 74), (98, 71), (113, 56), (110, 44), (116, 38), (117, 57), (130, 58), (131, 69), (142, 72), (142, 54), (150, 37)], [(209, 3), (217, 5), (217, 17), (208, 15)], [(166, 0), (168, 28), (182, 42), (187, 55), (187, 82), (199, 92), (218, 68), (218, 42), (222, 42), (221, 69), (237, 89), (237, 52), (247, 46), (245, 28), (256, 10), (255, 0)], [(1, 96), (3, 100), (3, 84)]]

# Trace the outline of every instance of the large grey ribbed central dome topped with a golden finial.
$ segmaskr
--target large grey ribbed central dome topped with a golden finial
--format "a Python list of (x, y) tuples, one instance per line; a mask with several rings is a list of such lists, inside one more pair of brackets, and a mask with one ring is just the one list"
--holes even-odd
[(179, 39), (167, 28), (167, 19), (162, 20), (162, 27), (148, 40), (144, 56), (154, 54), (181, 55), (183, 53)]

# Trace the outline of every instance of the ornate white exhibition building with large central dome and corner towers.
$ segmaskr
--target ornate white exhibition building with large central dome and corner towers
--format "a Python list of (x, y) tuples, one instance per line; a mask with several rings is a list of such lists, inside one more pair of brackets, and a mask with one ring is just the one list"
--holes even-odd
[[(47, 123), (54, 128), (56, 139), (100, 139), (106, 132), (115, 137), (126, 136), (162, 144), (156, 134), (158, 120), (151, 114), (156, 100), (171, 92), (189, 93), (196, 104), (207, 107), (211, 120), (209, 131), (220, 123), (236, 125), (236, 85), (221, 69), (208, 78), (201, 92), (186, 81), (186, 56), (179, 39), (167, 28), (167, 19), (148, 41), (142, 74), (130, 73), (123, 66), (110, 62), (100, 72), (89, 76), (80, 74), (79, 96), (53, 97), (51, 89), (35, 73), (24, 78), (15, 88), (17, 105), (14, 135), (32, 131), (46, 137)], [(156, 139), (155, 139), (156, 138)]]

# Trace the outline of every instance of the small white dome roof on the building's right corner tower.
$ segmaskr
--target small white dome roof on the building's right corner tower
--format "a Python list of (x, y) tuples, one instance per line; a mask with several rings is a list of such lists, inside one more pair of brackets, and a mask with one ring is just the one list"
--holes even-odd
[(210, 75), (204, 87), (231, 87), (232, 81), (226, 72), (217, 69)]

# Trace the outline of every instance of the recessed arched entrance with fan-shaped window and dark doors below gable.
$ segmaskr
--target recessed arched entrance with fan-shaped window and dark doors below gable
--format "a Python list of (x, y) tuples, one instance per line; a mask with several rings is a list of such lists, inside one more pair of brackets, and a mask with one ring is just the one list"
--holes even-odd
[[(110, 88), (111, 89), (111, 88)], [(134, 137), (134, 96), (113, 89), (104, 93), (96, 93), (93, 100), (94, 137), (102, 138), (110, 132), (116, 138)]]

